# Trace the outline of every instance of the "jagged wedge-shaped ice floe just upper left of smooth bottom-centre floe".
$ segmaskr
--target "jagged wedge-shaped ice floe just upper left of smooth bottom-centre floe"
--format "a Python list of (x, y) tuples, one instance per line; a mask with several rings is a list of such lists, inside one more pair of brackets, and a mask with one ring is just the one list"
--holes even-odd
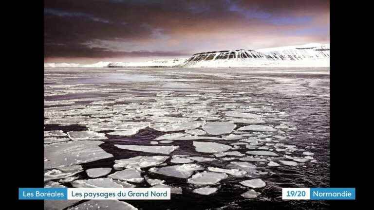
[(161, 168), (151, 168), (150, 172), (177, 178), (188, 178), (194, 171), (203, 169), (204, 168), (199, 164), (189, 163), (183, 165), (165, 166)]

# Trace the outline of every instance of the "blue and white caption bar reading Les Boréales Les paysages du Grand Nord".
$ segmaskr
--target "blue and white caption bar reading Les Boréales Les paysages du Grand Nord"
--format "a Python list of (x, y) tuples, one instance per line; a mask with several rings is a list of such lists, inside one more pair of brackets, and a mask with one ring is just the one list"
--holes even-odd
[(170, 188), (19, 188), (19, 200), (170, 200)]

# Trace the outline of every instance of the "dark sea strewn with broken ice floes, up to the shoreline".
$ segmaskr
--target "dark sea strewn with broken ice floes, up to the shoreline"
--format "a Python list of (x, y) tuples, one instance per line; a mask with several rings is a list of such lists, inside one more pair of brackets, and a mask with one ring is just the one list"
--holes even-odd
[(329, 186), (328, 68), (55, 68), (44, 76), (46, 186), (175, 192), (169, 201), (98, 204), (122, 209), (330, 209), (281, 200), (282, 187)]

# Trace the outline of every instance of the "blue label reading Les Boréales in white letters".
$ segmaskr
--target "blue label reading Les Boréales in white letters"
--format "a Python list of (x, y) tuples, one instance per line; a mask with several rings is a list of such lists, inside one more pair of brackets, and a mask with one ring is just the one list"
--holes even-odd
[(19, 188), (19, 200), (67, 200), (67, 188)]

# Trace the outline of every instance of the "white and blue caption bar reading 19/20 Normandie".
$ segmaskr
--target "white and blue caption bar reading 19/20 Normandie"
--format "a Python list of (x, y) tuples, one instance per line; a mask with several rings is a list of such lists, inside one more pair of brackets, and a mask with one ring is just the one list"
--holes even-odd
[(355, 200), (355, 188), (282, 188), (283, 200)]

